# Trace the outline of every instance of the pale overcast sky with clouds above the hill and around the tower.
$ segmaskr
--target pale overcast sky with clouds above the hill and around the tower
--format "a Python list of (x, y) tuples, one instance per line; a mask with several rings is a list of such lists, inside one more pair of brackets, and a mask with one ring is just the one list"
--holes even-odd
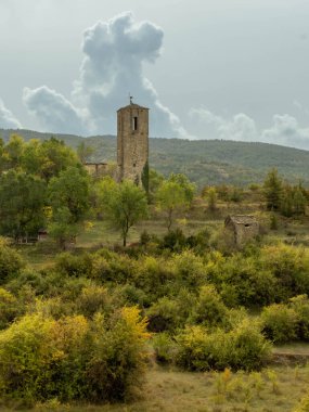
[(0, 0), (0, 128), (309, 150), (308, 0)]

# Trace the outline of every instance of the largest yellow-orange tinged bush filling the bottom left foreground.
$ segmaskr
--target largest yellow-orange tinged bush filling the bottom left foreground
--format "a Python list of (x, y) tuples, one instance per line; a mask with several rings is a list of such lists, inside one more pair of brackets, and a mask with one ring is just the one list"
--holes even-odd
[(140, 387), (145, 321), (124, 308), (106, 323), (82, 316), (26, 316), (0, 332), (0, 397), (28, 403), (124, 400)]

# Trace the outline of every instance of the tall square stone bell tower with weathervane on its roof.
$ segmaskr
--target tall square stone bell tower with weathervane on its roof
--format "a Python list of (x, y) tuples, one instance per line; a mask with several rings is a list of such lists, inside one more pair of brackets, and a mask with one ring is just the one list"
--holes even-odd
[(119, 181), (128, 179), (147, 190), (149, 108), (132, 102), (117, 111), (117, 164)]

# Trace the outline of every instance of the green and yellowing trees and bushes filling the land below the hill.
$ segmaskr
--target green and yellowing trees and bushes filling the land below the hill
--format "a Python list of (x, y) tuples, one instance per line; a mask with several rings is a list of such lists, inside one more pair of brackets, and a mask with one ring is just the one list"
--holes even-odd
[[(1, 401), (129, 401), (152, 362), (221, 372), (224, 396), (241, 373), (250, 390), (266, 373), (275, 391), (273, 346), (309, 342), (308, 239), (288, 229), (308, 224), (305, 185), (272, 169), (262, 185), (199, 195), (184, 175), (151, 170), (145, 194), (89, 176), (83, 149), (0, 145)], [(240, 211), (261, 226), (245, 245), (222, 227)], [(82, 246), (96, 226), (105, 232)], [(31, 244), (41, 229), (48, 239)]]

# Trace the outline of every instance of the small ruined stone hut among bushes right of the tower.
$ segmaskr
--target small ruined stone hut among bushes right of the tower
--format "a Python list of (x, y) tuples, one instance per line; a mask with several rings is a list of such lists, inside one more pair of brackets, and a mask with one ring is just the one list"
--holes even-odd
[(224, 227), (234, 234), (234, 242), (237, 247), (244, 246), (260, 232), (259, 222), (252, 215), (228, 216)]

